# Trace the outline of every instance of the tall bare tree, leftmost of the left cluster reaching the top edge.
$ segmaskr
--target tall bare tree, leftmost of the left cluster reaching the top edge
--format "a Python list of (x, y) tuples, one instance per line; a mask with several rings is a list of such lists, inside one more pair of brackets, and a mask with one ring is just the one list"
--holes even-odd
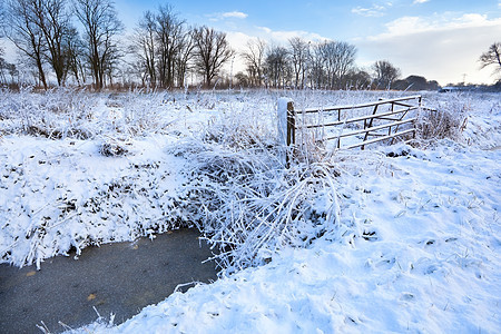
[(36, 23), (37, 14), (33, 2), (37, 0), (8, 0), (4, 12), (4, 35), (37, 68), (37, 78), (47, 89), (45, 65), (45, 36)]

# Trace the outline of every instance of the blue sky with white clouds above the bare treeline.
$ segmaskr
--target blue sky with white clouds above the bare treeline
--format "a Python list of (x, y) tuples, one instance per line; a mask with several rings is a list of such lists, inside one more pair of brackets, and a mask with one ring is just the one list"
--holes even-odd
[(255, 37), (283, 45), (294, 36), (343, 40), (357, 47), (357, 63), (367, 69), (387, 59), (403, 76), (422, 75), (441, 85), (464, 76), (475, 84), (495, 80), (491, 69), (479, 69), (478, 59), (501, 41), (501, 0), (116, 0), (130, 28), (145, 10), (163, 3), (189, 24), (227, 32), (237, 50)]

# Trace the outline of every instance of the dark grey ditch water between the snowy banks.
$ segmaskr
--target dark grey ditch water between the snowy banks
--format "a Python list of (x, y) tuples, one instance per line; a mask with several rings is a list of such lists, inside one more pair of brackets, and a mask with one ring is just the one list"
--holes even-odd
[[(212, 256), (196, 230), (158, 235), (153, 242), (115, 243), (89, 247), (78, 261), (58, 256), (21, 269), (0, 265), (0, 333), (51, 333), (77, 328), (115, 314), (122, 323), (147, 305), (169, 296), (177, 285), (215, 281)], [(188, 286), (189, 287), (189, 286)], [(186, 289), (186, 288), (185, 288)]]

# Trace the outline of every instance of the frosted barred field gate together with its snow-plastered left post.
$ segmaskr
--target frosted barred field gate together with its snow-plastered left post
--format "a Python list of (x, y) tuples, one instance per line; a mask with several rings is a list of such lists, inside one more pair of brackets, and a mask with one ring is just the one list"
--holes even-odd
[[(381, 111), (381, 109), (386, 110)], [(348, 117), (350, 112), (354, 114), (357, 109), (371, 108), (370, 115)], [(415, 121), (418, 117), (410, 115), (410, 111), (429, 109), (422, 106), (422, 97), (420, 95), (395, 98), (395, 99), (380, 99), (374, 102), (358, 104), (353, 106), (333, 106), (323, 108), (307, 108), (303, 110), (295, 110), (294, 104), (288, 99), (281, 99), (278, 102), (278, 118), (282, 117), (282, 122), (278, 122), (278, 127), (282, 132), (284, 144), (293, 146), (296, 143), (296, 132), (299, 131), (303, 136), (306, 131), (314, 131), (322, 129), (324, 132), (330, 128), (337, 128), (336, 135), (323, 135), (321, 139), (316, 141), (336, 140), (336, 149), (350, 149), (361, 147), (364, 149), (366, 145), (391, 139), (393, 144), (396, 138), (402, 136), (410, 136), (415, 138)], [(361, 111), (361, 110), (358, 110)], [(345, 118), (342, 118), (342, 114), (345, 114)], [(281, 116), (282, 114), (282, 116)], [(323, 118), (323, 121), (310, 122), (308, 117), (311, 115), (318, 115)], [(286, 119), (286, 121), (285, 121)], [(355, 126), (363, 122), (363, 128), (348, 129), (346, 125)], [(379, 122), (379, 124), (375, 124)], [(411, 126), (409, 128), (409, 125)], [(402, 126), (405, 128), (401, 129)], [(285, 129), (286, 127), (286, 129)], [(382, 132), (382, 130), (387, 131)], [(363, 135), (363, 139), (360, 143), (348, 143), (341, 145), (342, 138), (352, 137), (355, 139), (357, 136)], [(288, 160), (288, 158), (287, 158)]]

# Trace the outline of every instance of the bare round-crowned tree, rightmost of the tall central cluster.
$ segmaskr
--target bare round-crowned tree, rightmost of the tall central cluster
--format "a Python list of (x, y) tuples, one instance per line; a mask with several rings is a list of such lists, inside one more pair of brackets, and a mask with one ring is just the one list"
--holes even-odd
[(213, 28), (200, 27), (194, 29), (195, 66), (204, 75), (207, 87), (219, 73), (223, 65), (235, 55), (226, 40), (226, 33)]

